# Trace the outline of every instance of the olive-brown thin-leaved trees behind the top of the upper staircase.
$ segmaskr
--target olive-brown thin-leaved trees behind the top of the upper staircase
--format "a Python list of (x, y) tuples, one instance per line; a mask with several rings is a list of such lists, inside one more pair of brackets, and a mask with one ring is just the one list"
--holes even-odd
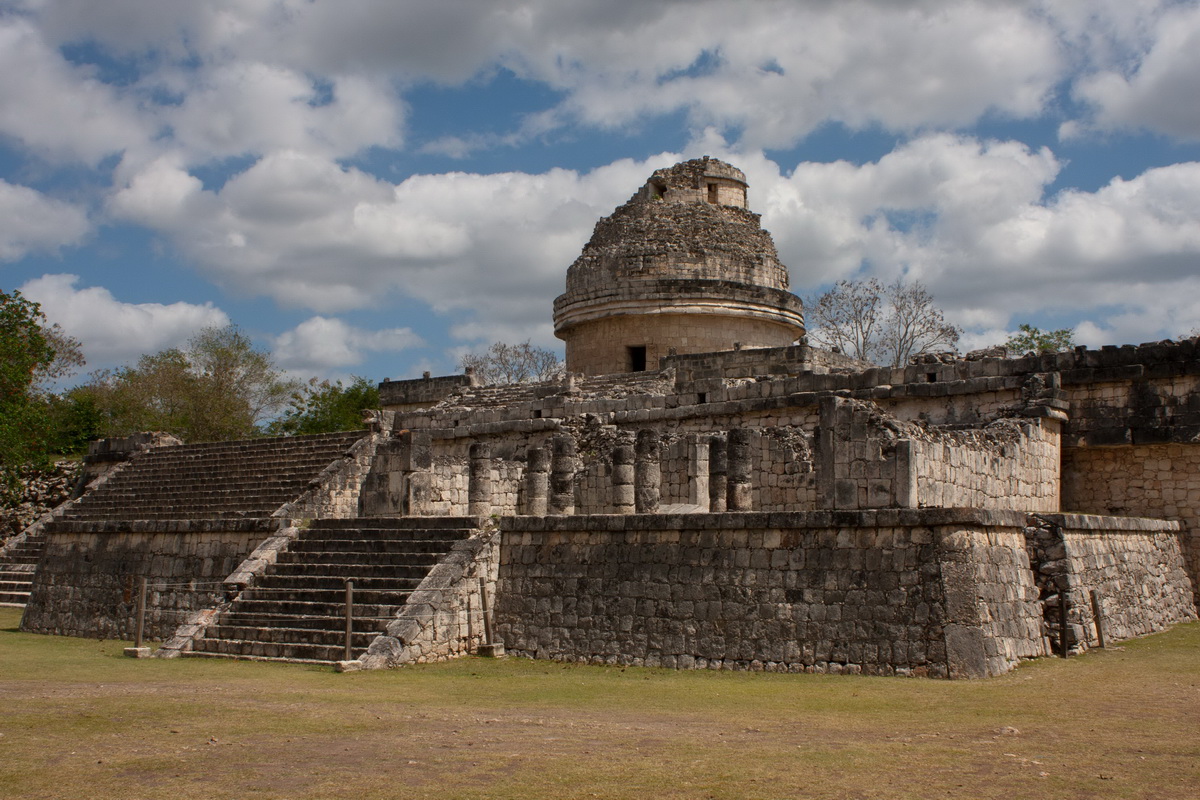
[(92, 375), (79, 389), (104, 435), (166, 431), (185, 441), (240, 439), (282, 408), (295, 381), (235, 326), (209, 327), (186, 347), (144, 355), (132, 367)]

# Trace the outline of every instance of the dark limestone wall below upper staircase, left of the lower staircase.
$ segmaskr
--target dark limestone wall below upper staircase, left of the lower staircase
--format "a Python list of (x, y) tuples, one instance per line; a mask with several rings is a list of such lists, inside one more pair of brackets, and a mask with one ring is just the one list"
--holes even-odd
[[(146, 578), (145, 636), (166, 638), (196, 610), (223, 597), (222, 581), (275, 521), (54, 523), (22, 630), (132, 639), (138, 585)], [(121, 529), (124, 527), (124, 529)]]

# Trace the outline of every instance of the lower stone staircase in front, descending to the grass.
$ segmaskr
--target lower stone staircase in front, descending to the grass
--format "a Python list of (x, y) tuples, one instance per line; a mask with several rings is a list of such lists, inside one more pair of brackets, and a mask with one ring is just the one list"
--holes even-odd
[(474, 517), (314, 521), (184, 655), (342, 661), (349, 578), (352, 657), (358, 657), (438, 560), (476, 525)]

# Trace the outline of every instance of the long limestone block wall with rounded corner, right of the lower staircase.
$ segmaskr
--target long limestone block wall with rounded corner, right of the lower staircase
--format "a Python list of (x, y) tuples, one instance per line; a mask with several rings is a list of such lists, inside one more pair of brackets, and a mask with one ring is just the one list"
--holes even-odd
[(515, 517), (497, 632), (539, 658), (996, 674), (1042, 655), (1024, 516), (972, 511)]

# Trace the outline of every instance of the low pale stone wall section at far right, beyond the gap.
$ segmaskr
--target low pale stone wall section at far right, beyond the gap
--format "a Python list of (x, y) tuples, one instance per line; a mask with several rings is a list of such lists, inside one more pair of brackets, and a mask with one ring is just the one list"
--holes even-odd
[(1178, 523), (1092, 515), (1038, 515), (1026, 530), (1057, 628), (1057, 595), (1067, 593), (1068, 645), (1098, 640), (1091, 593), (1098, 593), (1105, 638), (1128, 639), (1196, 619)]

